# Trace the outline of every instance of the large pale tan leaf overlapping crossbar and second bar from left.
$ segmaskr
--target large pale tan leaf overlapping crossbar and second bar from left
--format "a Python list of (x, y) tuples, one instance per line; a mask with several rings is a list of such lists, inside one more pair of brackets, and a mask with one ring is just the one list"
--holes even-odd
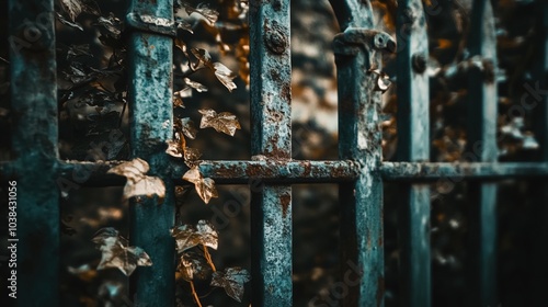
[(136, 158), (110, 169), (107, 173), (127, 178), (124, 186), (124, 200), (140, 195), (151, 197), (156, 194), (160, 198), (159, 203), (162, 203), (163, 197), (165, 197), (165, 184), (158, 177), (146, 175), (149, 169), (147, 161)]

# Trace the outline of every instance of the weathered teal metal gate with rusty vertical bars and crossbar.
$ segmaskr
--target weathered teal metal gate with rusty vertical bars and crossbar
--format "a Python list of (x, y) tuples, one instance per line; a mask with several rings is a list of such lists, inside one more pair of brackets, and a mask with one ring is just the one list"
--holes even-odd
[[(25, 44), (11, 49), (11, 101), (16, 114), (12, 149), (15, 159), (2, 162), (3, 178), (18, 180), (19, 306), (58, 306), (59, 191), (71, 179), (110, 185), (110, 162), (61, 161), (58, 158), (57, 89), (54, 1), (10, 0), (10, 37)], [(383, 181), (402, 182), (402, 295), (410, 306), (431, 305), (430, 190), (434, 180), (472, 180), (477, 212), (471, 217), (477, 240), (472, 260), (477, 284), (470, 286), (478, 306), (495, 306), (495, 194), (493, 180), (509, 177), (548, 177), (548, 107), (539, 105), (541, 160), (496, 162), (496, 83), (484, 78), (496, 67), (494, 19), (487, 0), (473, 2), (470, 56), (483, 66), (469, 71), (469, 152), (473, 161), (433, 163), (429, 140), (429, 79), (424, 73), (427, 36), (420, 0), (401, 0), (398, 31), (406, 31), (396, 47), (386, 33), (374, 29), (368, 1), (330, 1), (343, 33), (334, 37), (339, 79), (339, 151), (336, 161), (292, 160), (289, 0), (250, 1), (252, 155), (249, 161), (203, 161), (201, 171), (218, 183), (264, 183), (252, 193), (253, 306), (292, 306), (292, 184), (340, 184), (341, 280), (358, 271), (349, 286), (344, 306), (384, 304)], [(435, 1), (432, 1), (435, 2)], [(139, 269), (135, 299), (142, 306), (174, 305), (173, 180), (186, 171), (164, 154), (171, 138), (172, 33), (171, 0), (133, 0), (127, 18), (130, 34), (132, 156), (149, 162), (151, 174), (167, 185), (162, 205), (146, 200), (132, 206), (130, 238), (155, 260)], [(545, 8), (547, 5), (545, 4)], [(545, 10), (545, 20), (548, 14)], [(151, 18), (142, 18), (142, 16)], [(22, 21), (30, 22), (22, 22)], [(161, 22), (155, 22), (161, 21)], [(546, 26), (546, 22), (545, 22)], [(546, 30), (546, 27), (545, 27)], [(547, 42), (545, 37), (539, 37)], [(546, 44), (544, 45), (546, 48)], [(398, 48), (399, 147), (401, 162), (381, 161), (380, 91), (375, 69), (380, 55)], [(546, 67), (548, 50), (545, 50)], [(490, 64), (490, 65), (486, 65)], [(487, 72), (486, 72), (487, 71)], [(491, 71), (492, 72), (492, 71)], [(544, 83), (546, 84), (546, 83)], [(162, 125), (161, 123), (168, 123)], [(119, 182), (117, 182), (119, 184)], [(546, 200), (546, 198), (545, 198)], [(546, 252), (546, 249), (544, 250)], [(47, 265), (44, 265), (47, 263)]]

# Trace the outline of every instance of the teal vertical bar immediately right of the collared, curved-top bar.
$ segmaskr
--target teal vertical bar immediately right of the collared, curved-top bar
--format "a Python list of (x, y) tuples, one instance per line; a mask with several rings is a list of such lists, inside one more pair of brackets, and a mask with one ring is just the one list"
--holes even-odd
[[(398, 160), (430, 158), (429, 37), (422, 1), (398, 3)], [(431, 306), (430, 187), (401, 184), (399, 207), (400, 299)]]

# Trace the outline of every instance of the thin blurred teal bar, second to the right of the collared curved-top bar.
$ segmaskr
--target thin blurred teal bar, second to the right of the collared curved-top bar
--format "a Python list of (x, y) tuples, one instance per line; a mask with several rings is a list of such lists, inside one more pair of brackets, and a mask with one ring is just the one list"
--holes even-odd
[[(465, 159), (495, 162), (496, 37), (488, 0), (476, 0), (471, 12), (468, 50), (473, 64), (468, 76), (468, 136)], [(468, 250), (469, 306), (496, 306), (496, 184), (469, 184)]]

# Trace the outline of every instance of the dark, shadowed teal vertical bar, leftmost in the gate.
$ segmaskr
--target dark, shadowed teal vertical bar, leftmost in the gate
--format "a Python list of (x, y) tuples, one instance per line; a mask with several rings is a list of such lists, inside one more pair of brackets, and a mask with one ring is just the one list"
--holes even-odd
[[(54, 3), (11, 0), (11, 103), (15, 121), (16, 306), (59, 305), (59, 209), (55, 184), (57, 84)], [(10, 226), (12, 228), (12, 226)], [(45, 265), (44, 263), (47, 263)], [(5, 289), (4, 289), (5, 295)], [(4, 299), (9, 299), (4, 297)]]

